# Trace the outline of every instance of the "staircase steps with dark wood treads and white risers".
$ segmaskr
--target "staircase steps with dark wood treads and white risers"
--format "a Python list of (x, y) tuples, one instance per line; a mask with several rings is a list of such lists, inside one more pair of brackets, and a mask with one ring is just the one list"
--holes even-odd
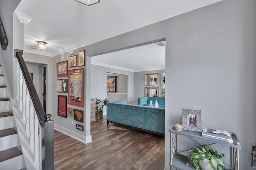
[(0, 66), (0, 169), (25, 170), (20, 140)]

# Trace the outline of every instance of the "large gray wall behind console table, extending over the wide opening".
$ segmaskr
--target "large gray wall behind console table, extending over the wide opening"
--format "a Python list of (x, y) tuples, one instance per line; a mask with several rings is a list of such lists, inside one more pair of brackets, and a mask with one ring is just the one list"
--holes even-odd
[(182, 122), (182, 108), (201, 109), (203, 128), (236, 133), (242, 147), (240, 168), (251, 169), (256, 141), (255, 8), (254, 0), (225, 0), (88, 46), (88, 55), (95, 55), (166, 38), (166, 169), (168, 130)]

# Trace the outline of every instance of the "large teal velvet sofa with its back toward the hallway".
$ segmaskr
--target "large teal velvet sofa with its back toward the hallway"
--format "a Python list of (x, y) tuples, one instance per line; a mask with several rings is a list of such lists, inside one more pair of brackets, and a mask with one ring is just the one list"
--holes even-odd
[(125, 100), (107, 103), (109, 122), (164, 136), (164, 108), (126, 104)]

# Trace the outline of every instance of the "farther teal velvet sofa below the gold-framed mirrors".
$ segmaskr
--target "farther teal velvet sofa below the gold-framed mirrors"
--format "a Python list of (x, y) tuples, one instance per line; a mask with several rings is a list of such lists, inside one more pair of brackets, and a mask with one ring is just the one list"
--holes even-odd
[(149, 106), (150, 100), (152, 101), (153, 107), (155, 106), (155, 103), (156, 103), (156, 100), (157, 100), (158, 107), (165, 108), (165, 98), (158, 98), (158, 97), (138, 98), (138, 105), (140, 105), (140, 106)]

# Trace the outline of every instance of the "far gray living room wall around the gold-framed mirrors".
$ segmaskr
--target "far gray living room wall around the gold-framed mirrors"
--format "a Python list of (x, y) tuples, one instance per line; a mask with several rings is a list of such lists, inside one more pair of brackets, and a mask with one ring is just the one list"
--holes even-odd
[[(159, 88), (158, 93), (160, 93), (161, 73), (165, 73), (165, 70), (134, 72), (134, 103), (135, 104), (138, 104), (138, 98), (145, 96), (145, 87), (149, 87), (149, 86), (145, 86), (145, 74), (154, 74), (154, 73), (159, 74), (159, 86), (154, 86), (154, 87), (158, 87)], [(163, 96), (159, 96), (159, 97), (163, 97)]]

